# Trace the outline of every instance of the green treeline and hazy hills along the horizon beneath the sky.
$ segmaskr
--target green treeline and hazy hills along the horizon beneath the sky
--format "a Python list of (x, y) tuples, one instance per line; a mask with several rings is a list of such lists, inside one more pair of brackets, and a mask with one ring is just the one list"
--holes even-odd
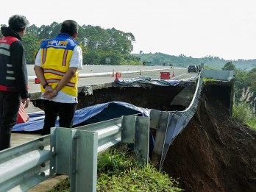
[[(6, 25), (0, 24), (0, 26)], [(26, 48), (26, 63), (34, 64), (41, 40), (54, 38), (60, 32), (60, 26), (61, 23), (53, 21), (49, 25), (31, 24), (27, 27), (26, 35), (22, 39)], [(186, 67), (204, 63), (205, 69), (209, 67), (221, 70), (224, 63), (229, 62), (211, 55), (193, 58), (185, 54), (175, 56), (160, 52), (144, 53), (143, 50), (133, 54), (135, 36), (132, 32), (123, 32), (115, 28), (104, 29), (101, 26), (82, 25), (79, 26), (79, 35), (76, 40), (82, 46), (84, 65), (142, 65), (146, 62), (150, 65)], [(256, 67), (256, 60), (232, 60), (231, 62), (241, 70), (250, 71)]]

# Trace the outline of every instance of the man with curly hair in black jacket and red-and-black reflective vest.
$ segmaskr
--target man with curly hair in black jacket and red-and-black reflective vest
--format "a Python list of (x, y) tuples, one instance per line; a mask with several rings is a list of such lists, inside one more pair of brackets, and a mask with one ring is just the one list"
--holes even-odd
[(0, 151), (10, 147), (13, 126), (18, 118), (21, 102), (29, 106), (28, 79), (24, 37), (29, 21), (22, 15), (13, 15), (9, 26), (2, 26), (0, 38)]

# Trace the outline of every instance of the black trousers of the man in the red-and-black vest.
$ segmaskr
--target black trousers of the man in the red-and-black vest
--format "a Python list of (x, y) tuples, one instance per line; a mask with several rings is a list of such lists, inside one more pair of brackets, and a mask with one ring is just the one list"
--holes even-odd
[(18, 118), (21, 96), (0, 90), (0, 151), (10, 147), (13, 126)]

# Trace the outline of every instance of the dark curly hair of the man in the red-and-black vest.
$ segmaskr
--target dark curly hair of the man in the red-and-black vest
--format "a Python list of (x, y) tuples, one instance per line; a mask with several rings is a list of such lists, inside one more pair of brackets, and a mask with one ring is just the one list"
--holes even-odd
[(8, 24), (15, 32), (21, 32), (26, 26), (29, 26), (29, 21), (23, 15), (13, 15), (9, 18)]

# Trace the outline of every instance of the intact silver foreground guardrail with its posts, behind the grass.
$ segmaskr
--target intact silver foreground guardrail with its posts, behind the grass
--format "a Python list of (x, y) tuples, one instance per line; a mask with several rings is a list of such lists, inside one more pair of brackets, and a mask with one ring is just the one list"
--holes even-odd
[(97, 154), (120, 142), (133, 143), (138, 160), (148, 163), (149, 118), (130, 115), (74, 129), (53, 127), (50, 135), (0, 152), (0, 191), (27, 191), (54, 174), (67, 174), (71, 191), (96, 191)]

